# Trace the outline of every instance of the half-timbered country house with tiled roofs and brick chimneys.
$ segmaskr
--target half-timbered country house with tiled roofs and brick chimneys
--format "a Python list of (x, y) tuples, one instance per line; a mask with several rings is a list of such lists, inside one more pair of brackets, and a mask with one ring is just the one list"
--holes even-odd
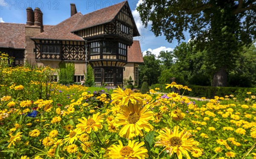
[(84, 79), (87, 64), (96, 86), (122, 86), (130, 76), (138, 84), (143, 63), (137, 26), (127, 1), (88, 14), (71, 6), (71, 17), (55, 26), (43, 25), (39, 8), (27, 8), (27, 22), (0, 23), (0, 52), (15, 58), (14, 65), (29, 63), (58, 68), (73, 62), (74, 81)]

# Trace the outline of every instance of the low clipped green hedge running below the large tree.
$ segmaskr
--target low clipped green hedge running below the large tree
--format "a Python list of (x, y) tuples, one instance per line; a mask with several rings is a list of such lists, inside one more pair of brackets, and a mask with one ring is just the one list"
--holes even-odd
[[(169, 92), (166, 90), (164, 84), (152, 84), (151, 89), (160, 88), (161, 92)], [(247, 92), (251, 92), (252, 95), (256, 95), (256, 88), (244, 88), (244, 87), (211, 87), (211, 86), (188, 86), (192, 89), (191, 92), (186, 91), (185, 95), (193, 97), (206, 97), (214, 98), (214, 96), (224, 97), (225, 95), (233, 94), (236, 98), (247, 98)], [(168, 88), (169, 89), (169, 88)], [(182, 93), (182, 92), (181, 92)]]

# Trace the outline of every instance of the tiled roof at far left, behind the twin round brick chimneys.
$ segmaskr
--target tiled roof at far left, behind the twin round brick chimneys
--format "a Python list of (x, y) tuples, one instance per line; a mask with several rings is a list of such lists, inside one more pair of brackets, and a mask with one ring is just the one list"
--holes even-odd
[[(25, 26), (26, 24), (19, 23), (0, 23), (0, 47), (24, 49)], [(44, 30), (47, 31), (51, 27), (44, 25)]]

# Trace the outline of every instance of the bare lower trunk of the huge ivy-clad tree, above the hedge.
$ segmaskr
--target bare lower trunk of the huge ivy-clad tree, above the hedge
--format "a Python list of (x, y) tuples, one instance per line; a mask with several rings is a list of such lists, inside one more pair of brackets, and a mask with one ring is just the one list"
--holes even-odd
[(213, 87), (226, 87), (227, 86), (227, 72), (226, 67), (218, 69), (217, 72), (213, 75), (212, 79)]

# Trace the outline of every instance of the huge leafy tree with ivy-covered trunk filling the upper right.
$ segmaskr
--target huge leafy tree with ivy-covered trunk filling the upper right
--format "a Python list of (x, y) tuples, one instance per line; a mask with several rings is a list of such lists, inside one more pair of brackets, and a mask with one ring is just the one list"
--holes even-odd
[(189, 31), (197, 49), (206, 50), (212, 86), (227, 85), (239, 49), (256, 35), (254, 0), (145, 0), (137, 10), (143, 24), (151, 21), (151, 31), (169, 42)]

